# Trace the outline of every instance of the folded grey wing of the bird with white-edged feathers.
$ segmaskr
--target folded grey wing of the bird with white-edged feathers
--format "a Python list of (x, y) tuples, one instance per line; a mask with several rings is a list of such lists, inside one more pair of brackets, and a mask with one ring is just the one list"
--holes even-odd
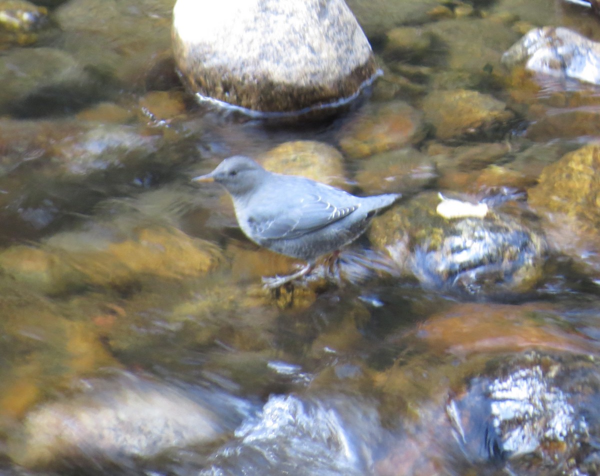
[(257, 239), (298, 238), (338, 221), (358, 209), (358, 199), (350, 201), (347, 198), (352, 195), (345, 192), (342, 194), (345, 200), (341, 201), (347, 202), (344, 206), (331, 203), (335, 198), (339, 198), (331, 197), (331, 194), (328, 194), (328, 198), (323, 198), (319, 193), (305, 194), (292, 200), (292, 203), (288, 201), (285, 207), (273, 207), (269, 212), (248, 217), (248, 225)]

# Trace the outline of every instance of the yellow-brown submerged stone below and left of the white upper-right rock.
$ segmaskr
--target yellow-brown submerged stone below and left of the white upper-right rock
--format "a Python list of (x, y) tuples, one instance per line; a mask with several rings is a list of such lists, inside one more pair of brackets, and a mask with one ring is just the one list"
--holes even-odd
[(422, 106), (441, 140), (502, 137), (515, 117), (502, 101), (465, 89), (432, 92)]

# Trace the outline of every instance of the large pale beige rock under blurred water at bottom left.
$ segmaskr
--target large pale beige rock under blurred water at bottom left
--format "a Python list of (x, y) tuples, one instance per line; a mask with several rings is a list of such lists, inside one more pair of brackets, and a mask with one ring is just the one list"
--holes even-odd
[(11, 439), (11, 459), (26, 468), (127, 464), (212, 441), (223, 431), (217, 414), (191, 391), (133, 375), (88, 386), (29, 413), (23, 435)]

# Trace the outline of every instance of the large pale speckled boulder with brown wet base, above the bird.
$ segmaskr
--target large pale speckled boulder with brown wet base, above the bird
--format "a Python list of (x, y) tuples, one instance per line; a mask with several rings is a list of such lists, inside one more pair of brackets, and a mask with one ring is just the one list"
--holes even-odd
[(331, 110), (377, 74), (343, 0), (178, 0), (173, 48), (191, 92), (248, 113)]

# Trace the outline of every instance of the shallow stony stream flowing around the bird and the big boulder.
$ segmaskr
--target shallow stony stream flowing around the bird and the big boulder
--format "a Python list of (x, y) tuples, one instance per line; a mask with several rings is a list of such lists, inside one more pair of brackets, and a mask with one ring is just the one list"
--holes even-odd
[[(173, 0), (35, 4), (0, 1), (0, 474), (600, 472), (598, 89), (500, 65), (589, 10), (349, 1), (384, 76), (281, 125), (182, 91)], [(404, 197), (265, 291), (298, 263), (190, 183), (238, 153)]]

